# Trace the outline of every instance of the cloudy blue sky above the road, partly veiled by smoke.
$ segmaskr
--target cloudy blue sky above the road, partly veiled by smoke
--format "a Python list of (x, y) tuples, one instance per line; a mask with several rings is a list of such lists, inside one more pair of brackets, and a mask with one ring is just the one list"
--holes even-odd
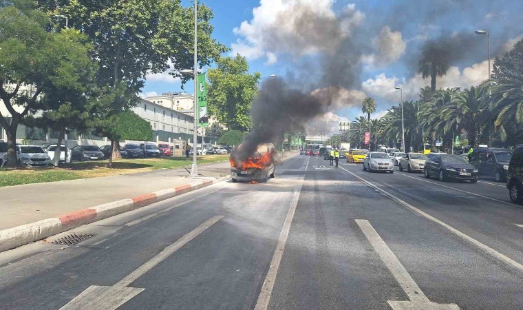
[[(429, 85), (428, 80), (423, 80), (416, 74), (420, 49), (428, 41), (446, 40), (445, 47), (448, 46), (454, 54), (451, 69), (438, 86), (464, 88), (480, 83), (488, 73), (487, 40), (484, 36), (474, 34), (474, 30), (490, 32), (493, 56), (502, 54), (515, 40), (523, 39), (521, 0), (203, 2), (215, 14), (215, 39), (234, 51), (242, 51), (249, 60), (251, 70), (261, 72), (263, 76), (319, 72), (322, 70), (322, 55), (330, 53), (328, 48), (321, 45), (322, 39), (332, 45), (343, 41), (328, 36), (308, 38), (307, 32), (301, 33), (301, 37), (296, 39), (293, 37), (293, 26), (282, 26), (283, 23), (296, 21), (300, 12), (313, 12), (312, 14), (323, 18), (317, 25), (314, 25), (312, 19), (310, 23), (304, 19), (312, 32), (323, 27), (325, 20), (340, 22), (339, 27), (343, 28), (340, 35), (352, 40), (350, 52), (360, 50), (357, 55), (359, 67), (353, 72), (355, 81), (350, 85), (337, 85), (347, 90), (347, 96), (343, 97), (344, 103), (335, 105), (332, 110), (332, 114), (348, 118), (361, 114), (358, 101), (364, 96), (376, 99), (378, 111), (375, 117), (383, 115), (394, 101), (398, 101), (394, 86), (403, 87), (405, 98), (415, 99), (419, 87)], [(191, 5), (191, 1), (183, 0), (182, 3), (185, 6)], [(255, 8), (259, 11), (257, 17), (253, 16)], [(303, 8), (307, 10), (302, 11)], [(346, 16), (347, 12), (350, 17)], [(310, 15), (306, 16), (310, 19)], [(247, 24), (239, 28), (244, 21)], [(233, 32), (234, 28), (239, 28), (239, 31)], [(290, 42), (295, 39), (298, 44), (291, 45)], [(308, 79), (310, 83), (328, 86), (324, 81), (317, 81), (321, 79), (321, 74), (310, 74)], [(149, 77), (143, 92), (159, 94), (181, 90), (179, 82), (168, 77), (166, 79), (165, 74), (156, 74)], [(185, 85), (185, 90), (192, 93), (192, 84)]]

